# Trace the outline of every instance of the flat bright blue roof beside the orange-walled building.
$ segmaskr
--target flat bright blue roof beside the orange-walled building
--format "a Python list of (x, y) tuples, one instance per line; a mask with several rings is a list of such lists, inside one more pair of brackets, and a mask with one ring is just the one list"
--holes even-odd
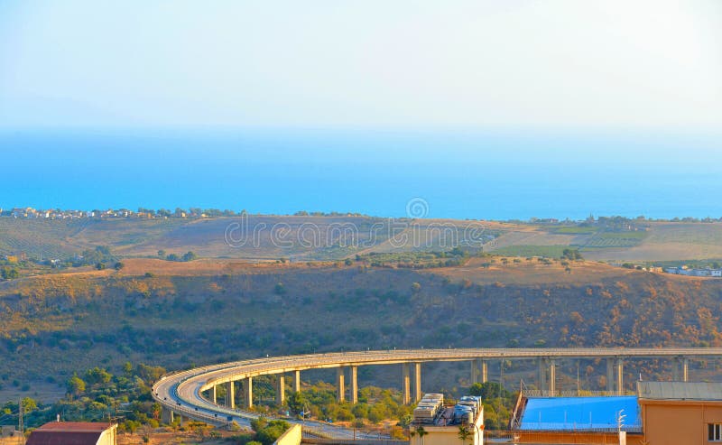
[(609, 397), (530, 397), (519, 430), (588, 431), (616, 430), (616, 419), (624, 410), (622, 430), (642, 427), (635, 395)]

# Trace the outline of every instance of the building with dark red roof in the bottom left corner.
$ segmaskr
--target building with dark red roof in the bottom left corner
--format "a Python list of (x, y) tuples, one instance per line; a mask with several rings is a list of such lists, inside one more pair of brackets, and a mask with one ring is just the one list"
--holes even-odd
[(32, 431), (26, 445), (116, 445), (117, 425), (104, 422), (48, 422)]

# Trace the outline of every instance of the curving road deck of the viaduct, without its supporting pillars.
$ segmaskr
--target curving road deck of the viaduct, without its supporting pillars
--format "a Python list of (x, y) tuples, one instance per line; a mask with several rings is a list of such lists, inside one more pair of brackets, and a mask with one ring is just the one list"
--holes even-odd
[[(722, 348), (463, 348), (381, 350), (346, 353), (312, 354), (304, 356), (264, 357), (164, 375), (153, 385), (153, 397), (165, 409), (174, 413), (218, 425), (227, 424), (228, 416), (239, 425), (248, 426), (256, 413), (232, 410), (211, 403), (201, 392), (214, 385), (242, 380), (256, 375), (273, 375), (308, 369), (341, 366), (393, 365), (430, 361), (471, 361), (481, 359), (535, 358), (643, 358), (643, 357), (722, 357)], [(352, 439), (354, 431), (325, 422), (302, 422), (307, 428), (329, 434), (334, 438)], [(370, 438), (356, 433), (358, 439)], [(376, 435), (372, 436), (377, 438)]]

